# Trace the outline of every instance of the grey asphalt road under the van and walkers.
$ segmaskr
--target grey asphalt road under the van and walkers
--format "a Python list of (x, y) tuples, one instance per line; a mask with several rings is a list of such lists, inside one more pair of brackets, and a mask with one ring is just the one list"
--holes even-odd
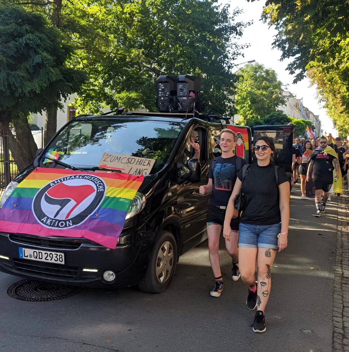
[(223, 246), (224, 291), (209, 295), (214, 279), (205, 241), (180, 258), (172, 284), (159, 295), (84, 289), (59, 301), (24, 302), (7, 295), (21, 278), (0, 273), (0, 351), (330, 352), (337, 204), (315, 218), (314, 200), (299, 196), (296, 186), (289, 246), (272, 269), (266, 333), (252, 331), (247, 288), (231, 281)]

